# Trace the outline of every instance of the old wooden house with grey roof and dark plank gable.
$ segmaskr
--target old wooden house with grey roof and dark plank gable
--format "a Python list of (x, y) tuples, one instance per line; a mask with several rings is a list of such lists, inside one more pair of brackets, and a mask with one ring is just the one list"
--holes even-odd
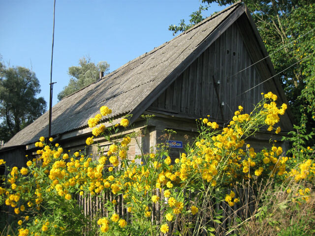
[[(239, 105), (250, 112), (261, 100), (261, 92), (272, 91), (279, 103), (287, 103), (275, 74), (250, 12), (236, 3), (63, 98), (52, 110), (52, 137), (65, 150), (84, 149), (86, 138), (92, 136), (87, 121), (105, 105), (113, 110), (110, 118), (116, 123), (132, 114), (127, 133), (142, 131), (131, 142), (131, 157), (140, 154), (141, 148), (144, 152), (154, 148), (164, 129), (177, 132), (171, 138), (178, 141), (174, 142), (177, 147), (170, 148), (171, 156), (176, 156), (196, 135), (195, 119), (210, 115), (223, 127)], [(146, 123), (143, 114), (155, 118)], [(47, 112), (17, 133), (0, 151), (0, 158), (23, 165), (24, 156), (35, 153), (39, 137), (48, 136), (48, 116)], [(103, 122), (108, 125), (108, 120)], [(250, 141), (252, 146), (261, 149), (270, 145), (270, 139), (281, 141), (292, 129), (289, 111), (280, 126), (278, 135), (261, 131)], [(108, 145), (105, 139), (96, 140), (100, 146)], [(16, 157), (10, 161), (12, 151)], [(97, 154), (96, 145), (87, 151)]]

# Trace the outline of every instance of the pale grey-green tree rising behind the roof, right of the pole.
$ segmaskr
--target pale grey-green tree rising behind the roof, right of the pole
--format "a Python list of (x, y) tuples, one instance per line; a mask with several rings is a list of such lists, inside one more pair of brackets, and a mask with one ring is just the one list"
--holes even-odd
[(105, 74), (109, 72), (109, 64), (106, 61), (100, 61), (96, 65), (90, 61), (89, 57), (83, 57), (79, 60), (79, 66), (69, 67), (68, 74), (71, 78), (69, 84), (58, 94), (59, 101), (63, 97), (94, 83), (99, 78), (100, 71)]

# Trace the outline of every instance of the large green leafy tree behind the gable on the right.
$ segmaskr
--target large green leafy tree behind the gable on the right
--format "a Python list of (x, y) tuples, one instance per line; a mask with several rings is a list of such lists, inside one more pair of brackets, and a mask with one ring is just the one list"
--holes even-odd
[[(236, 1), (203, 0), (202, 2), (226, 5)], [(280, 73), (296, 123), (301, 129), (307, 129), (308, 133), (312, 133), (315, 127), (315, 0), (243, 0), (243, 2), (251, 10), (252, 18), (275, 70)], [(198, 12), (198, 14), (194, 13), (193, 15), (200, 15)], [(182, 31), (181, 29), (186, 28), (181, 22), (178, 28), (170, 27), (170, 30), (176, 32), (174, 29)], [(312, 142), (311, 144), (314, 145), (314, 141)]]

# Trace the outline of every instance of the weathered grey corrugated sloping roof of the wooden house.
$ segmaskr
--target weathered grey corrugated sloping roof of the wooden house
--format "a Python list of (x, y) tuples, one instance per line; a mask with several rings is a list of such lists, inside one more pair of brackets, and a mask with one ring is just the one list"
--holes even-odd
[[(244, 5), (236, 3), (129, 61), (100, 81), (63, 98), (52, 110), (52, 136), (87, 127), (88, 119), (99, 113), (103, 105), (113, 110), (112, 117), (128, 113), (133, 114), (133, 120), (139, 117), (195, 56), (202, 53), (200, 48), (214, 29), (229, 20), (232, 14), (238, 16), (244, 12)], [(49, 113), (46, 112), (4, 147), (27, 145), (36, 142), (40, 136), (47, 137), (48, 120)]]

